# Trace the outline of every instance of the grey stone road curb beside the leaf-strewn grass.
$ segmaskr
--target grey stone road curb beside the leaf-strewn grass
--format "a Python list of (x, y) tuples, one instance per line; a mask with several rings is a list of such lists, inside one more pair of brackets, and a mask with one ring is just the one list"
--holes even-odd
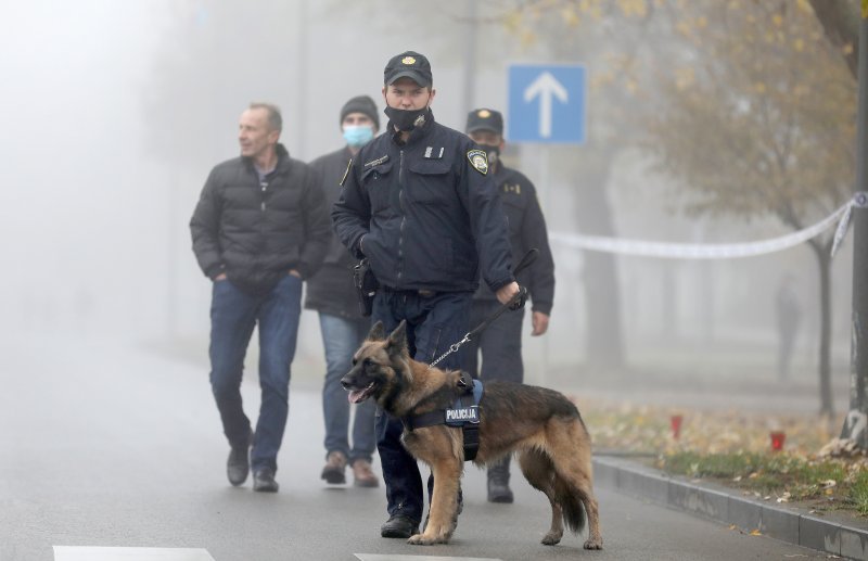
[(771, 506), (711, 483), (691, 482), (615, 456), (593, 458), (593, 481), (626, 495), (733, 524), (744, 532), (868, 561), (868, 530), (826, 520), (795, 508)]

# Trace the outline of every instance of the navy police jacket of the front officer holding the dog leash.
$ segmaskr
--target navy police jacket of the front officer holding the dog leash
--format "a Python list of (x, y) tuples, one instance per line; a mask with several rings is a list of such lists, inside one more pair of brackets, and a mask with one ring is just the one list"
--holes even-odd
[(344, 245), (367, 256), (380, 283), (395, 290), (472, 292), (480, 271), (492, 290), (512, 282), (506, 219), (485, 153), (431, 112), (406, 143), (394, 130), (390, 123), (346, 170), (332, 208)]

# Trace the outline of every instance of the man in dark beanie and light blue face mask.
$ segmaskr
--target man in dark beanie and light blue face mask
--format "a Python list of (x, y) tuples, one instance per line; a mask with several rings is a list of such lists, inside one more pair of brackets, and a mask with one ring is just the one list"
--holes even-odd
[[(346, 145), (310, 163), (319, 175), (320, 188), (329, 206), (341, 194), (341, 178), (347, 163), (380, 129), (378, 113), (376, 104), (368, 95), (357, 95), (344, 103), (340, 125)], [(326, 381), (322, 385), (326, 467), (321, 477), (330, 484), (346, 483), (344, 472), (349, 463), (356, 486), (376, 487), (380, 483), (371, 470), (375, 405), (367, 401), (355, 406), (350, 443), (350, 407), (346, 392), (341, 387), (341, 377), (352, 368), (353, 353), (371, 328), (370, 318), (359, 313), (353, 286), (353, 265), (349, 252), (332, 233), (322, 268), (307, 281), (305, 308), (319, 311), (326, 349)]]

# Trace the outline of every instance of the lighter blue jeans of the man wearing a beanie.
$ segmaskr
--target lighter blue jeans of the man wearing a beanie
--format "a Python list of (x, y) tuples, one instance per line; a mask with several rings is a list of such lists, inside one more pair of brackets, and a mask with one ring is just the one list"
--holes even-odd
[(371, 461), (374, 448), (373, 417), (376, 405), (368, 399), (356, 406), (353, 420), (353, 446), (349, 433), (349, 400), (341, 379), (353, 366), (353, 355), (371, 329), (369, 318), (346, 319), (320, 313), (319, 328), (326, 348), (326, 382), (322, 384), (322, 413), (326, 418), (326, 454), (340, 451), (352, 464), (358, 459)]

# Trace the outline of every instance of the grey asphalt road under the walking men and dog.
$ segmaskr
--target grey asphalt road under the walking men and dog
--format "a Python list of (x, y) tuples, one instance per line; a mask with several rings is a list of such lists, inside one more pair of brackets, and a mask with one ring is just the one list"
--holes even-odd
[[(572, 535), (542, 546), (545, 497), (513, 477), (516, 502), (490, 505), (472, 466), (454, 541), (409, 546), (379, 536), (382, 487), (319, 480), (316, 384), (293, 385), (281, 489), (268, 495), (226, 481), (228, 448), (203, 364), (104, 339), (28, 340), (3, 356), (0, 561), (826, 558), (605, 488), (603, 551), (583, 550), (584, 537)], [(255, 411), (255, 375), (243, 392)]]

